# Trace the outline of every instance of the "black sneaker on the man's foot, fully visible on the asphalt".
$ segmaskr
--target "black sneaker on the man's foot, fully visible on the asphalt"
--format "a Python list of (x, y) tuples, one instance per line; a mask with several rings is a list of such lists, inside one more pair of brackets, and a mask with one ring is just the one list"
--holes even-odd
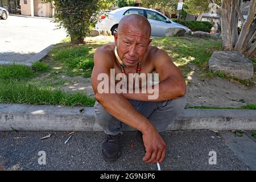
[(112, 162), (120, 155), (120, 137), (118, 135), (107, 135), (106, 141), (102, 143), (102, 155), (107, 162)]

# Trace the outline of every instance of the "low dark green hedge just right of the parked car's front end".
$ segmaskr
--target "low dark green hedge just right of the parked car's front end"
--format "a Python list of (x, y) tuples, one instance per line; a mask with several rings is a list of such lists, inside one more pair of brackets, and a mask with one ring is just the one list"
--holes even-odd
[[(177, 22), (177, 19), (172, 19), (172, 21)], [(204, 31), (210, 32), (213, 27), (213, 24), (210, 22), (198, 22), (198, 21), (186, 21), (181, 20), (179, 24), (183, 24), (184, 26), (188, 27), (192, 31)]]

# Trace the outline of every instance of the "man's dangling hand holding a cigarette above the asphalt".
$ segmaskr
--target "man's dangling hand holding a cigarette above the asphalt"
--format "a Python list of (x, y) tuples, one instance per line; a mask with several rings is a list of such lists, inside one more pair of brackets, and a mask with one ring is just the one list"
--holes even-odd
[(145, 133), (142, 132), (146, 154), (142, 159), (146, 163), (162, 163), (166, 156), (166, 142), (159, 135), (158, 131), (153, 128)]

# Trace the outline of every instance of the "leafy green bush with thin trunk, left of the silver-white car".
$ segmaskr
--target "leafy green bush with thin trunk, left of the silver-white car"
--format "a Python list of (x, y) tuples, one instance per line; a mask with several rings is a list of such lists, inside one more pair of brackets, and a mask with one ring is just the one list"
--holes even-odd
[[(53, 0), (42, 0), (44, 3)], [(54, 0), (55, 22), (59, 28), (64, 27), (74, 44), (84, 43), (91, 28), (98, 20), (97, 13), (106, 9), (110, 0)]]

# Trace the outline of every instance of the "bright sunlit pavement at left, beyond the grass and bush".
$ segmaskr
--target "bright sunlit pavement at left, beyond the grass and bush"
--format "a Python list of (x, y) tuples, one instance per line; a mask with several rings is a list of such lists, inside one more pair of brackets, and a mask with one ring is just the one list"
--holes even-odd
[(52, 44), (64, 39), (65, 30), (54, 30), (56, 23), (51, 21), (12, 15), (7, 20), (0, 19), (0, 64), (15, 61), (30, 65)]

